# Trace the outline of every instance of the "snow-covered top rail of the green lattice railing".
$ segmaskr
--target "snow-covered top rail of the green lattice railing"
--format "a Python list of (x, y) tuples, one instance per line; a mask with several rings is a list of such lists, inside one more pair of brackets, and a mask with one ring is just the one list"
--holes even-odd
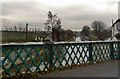
[[(64, 44), (89, 44), (89, 43), (119, 43), (120, 41), (81, 41), (80, 43), (76, 42), (54, 42), (51, 45), (64, 45)], [(44, 44), (43, 42), (26, 42), (26, 43), (5, 43), (0, 44), (0, 46), (41, 46), (41, 45), (49, 45)]]

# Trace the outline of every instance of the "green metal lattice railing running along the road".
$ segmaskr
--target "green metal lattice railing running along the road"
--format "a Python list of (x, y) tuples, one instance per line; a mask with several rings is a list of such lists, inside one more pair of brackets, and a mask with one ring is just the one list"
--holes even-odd
[(0, 50), (4, 77), (120, 58), (119, 42), (2, 45)]

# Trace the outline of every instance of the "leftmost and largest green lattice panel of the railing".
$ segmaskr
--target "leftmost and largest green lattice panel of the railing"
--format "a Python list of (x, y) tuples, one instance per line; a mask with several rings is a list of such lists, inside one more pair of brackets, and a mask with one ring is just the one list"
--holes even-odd
[(49, 69), (49, 50), (47, 46), (3, 47), (3, 75), (47, 71)]

